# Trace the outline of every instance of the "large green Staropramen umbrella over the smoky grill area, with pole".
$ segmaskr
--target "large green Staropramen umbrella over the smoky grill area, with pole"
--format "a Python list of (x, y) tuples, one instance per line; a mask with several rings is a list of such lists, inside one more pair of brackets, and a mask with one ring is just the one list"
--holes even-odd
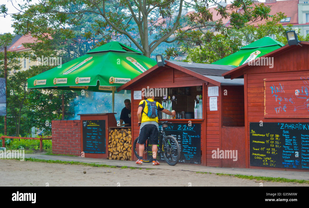
[[(42, 57), (43, 58), (43, 57)], [(43, 58), (42, 63), (50, 62)], [(111, 41), (79, 58), (28, 79), (28, 88), (88, 90), (114, 93), (119, 87), (155, 66), (156, 61), (124, 44)]]

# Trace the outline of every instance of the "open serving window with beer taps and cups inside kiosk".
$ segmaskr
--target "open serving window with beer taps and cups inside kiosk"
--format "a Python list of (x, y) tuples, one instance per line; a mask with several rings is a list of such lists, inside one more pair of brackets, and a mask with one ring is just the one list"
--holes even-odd
[[(165, 97), (155, 97), (169, 111), (176, 111), (176, 119), (202, 119), (202, 86), (164, 88)], [(172, 119), (162, 113), (160, 119)]]

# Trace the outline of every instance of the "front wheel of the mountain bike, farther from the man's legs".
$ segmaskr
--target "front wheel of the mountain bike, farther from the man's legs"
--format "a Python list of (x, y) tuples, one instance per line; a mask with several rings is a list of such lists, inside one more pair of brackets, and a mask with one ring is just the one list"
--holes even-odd
[(163, 157), (167, 164), (176, 165), (180, 159), (180, 148), (175, 137), (167, 136), (163, 139)]

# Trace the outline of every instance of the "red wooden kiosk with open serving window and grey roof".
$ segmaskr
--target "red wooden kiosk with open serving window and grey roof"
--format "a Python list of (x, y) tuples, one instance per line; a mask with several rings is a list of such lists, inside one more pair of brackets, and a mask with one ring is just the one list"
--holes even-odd
[[(221, 74), (233, 69), (229, 66), (200, 64), (188, 62), (166, 61), (163, 67), (155, 65), (133, 80), (119, 87), (131, 90), (131, 119), (133, 141), (139, 135), (137, 109), (140, 99), (134, 99), (134, 91), (141, 91), (143, 88), (168, 88), (169, 96), (175, 94), (177, 97), (176, 112), (193, 111), (194, 99), (197, 94), (202, 95), (202, 118), (201, 119), (170, 119), (171, 122), (187, 124), (201, 124), (201, 165), (215, 167), (244, 167), (244, 103), (243, 103), (243, 79), (226, 80)], [(217, 102), (212, 105), (217, 110), (210, 110), (210, 97), (208, 89), (218, 87)], [(189, 88), (190, 95), (184, 92), (178, 93), (179, 89)], [(178, 89), (178, 91), (177, 91)], [(202, 91), (198, 91), (202, 89)], [(226, 93), (227, 90), (228, 92)], [(206, 98), (206, 102), (205, 102)], [(156, 98), (155, 98), (156, 99)], [(156, 101), (161, 103), (161, 98)], [(178, 104), (179, 103), (179, 104)], [(168, 119), (162, 119), (168, 120)], [(229, 133), (229, 132), (232, 132)], [(225, 138), (228, 137), (228, 138)], [(132, 143), (133, 143), (132, 141)], [(229, 144), (233, 141), (233, 144)], [(222, 162), (220, 158), (213, 158), (213, 150), (233, 147), (240, 150), (238, 161), (227, 159)], [(243, 153), (242, 153), (243, 151)], [(133, 160), (137, 159), (134, 155)]]

